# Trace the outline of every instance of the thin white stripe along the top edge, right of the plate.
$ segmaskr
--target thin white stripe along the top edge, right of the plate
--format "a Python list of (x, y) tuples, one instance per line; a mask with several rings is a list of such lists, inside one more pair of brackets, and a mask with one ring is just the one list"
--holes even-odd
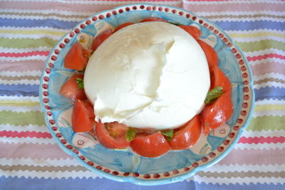
[[(183, 1), (185, 4), (192, 5), (222, 5), (222, 4), (283, 4), (282, 1), (267, 1), (267, 0), (251, 0), (251, 1)], [(234, 5), (233, 5), (234, 6)]]

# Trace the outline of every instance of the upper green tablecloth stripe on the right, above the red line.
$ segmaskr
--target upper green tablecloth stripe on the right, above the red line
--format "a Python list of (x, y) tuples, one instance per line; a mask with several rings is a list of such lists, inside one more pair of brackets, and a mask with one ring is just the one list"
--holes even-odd
[(274, 40), (251, 41), (251, 42), (235, 42), (237, 46), (242, 48), (242, 51), (261, 51), (265, 49), (275, 48), (285, 51), (285, 43)]

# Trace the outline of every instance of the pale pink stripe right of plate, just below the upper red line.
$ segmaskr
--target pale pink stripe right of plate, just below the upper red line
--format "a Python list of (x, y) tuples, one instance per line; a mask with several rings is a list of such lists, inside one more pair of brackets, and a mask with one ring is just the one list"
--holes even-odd
[(264, 75), (266, 73), (279, 73), (285, 75), (285, 67), (282, 63), (266, 62), (257, 65), (251, 65), (252, 72), (255, 76)]

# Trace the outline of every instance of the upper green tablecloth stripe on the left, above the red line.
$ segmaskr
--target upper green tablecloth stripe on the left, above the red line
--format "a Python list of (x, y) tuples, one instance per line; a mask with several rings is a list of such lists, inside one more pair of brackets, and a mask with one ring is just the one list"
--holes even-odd
[(0, 38), (0, 46), (4, 48), (52, 48), (57, 41), (51, 38)]

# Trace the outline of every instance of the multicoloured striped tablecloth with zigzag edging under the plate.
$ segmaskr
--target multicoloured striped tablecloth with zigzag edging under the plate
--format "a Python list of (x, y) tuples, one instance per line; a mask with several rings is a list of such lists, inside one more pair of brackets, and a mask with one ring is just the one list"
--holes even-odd
[(0, 1), (0, 189), (285, 189), (285, 1), (147, 1), (211, 19), (249, 60), (254, 116), (218, 164), (175, 184), (137, 186), (91, 173), (53, 141), (38, 102), (49, 51), (78, 21), (138, 2)]

